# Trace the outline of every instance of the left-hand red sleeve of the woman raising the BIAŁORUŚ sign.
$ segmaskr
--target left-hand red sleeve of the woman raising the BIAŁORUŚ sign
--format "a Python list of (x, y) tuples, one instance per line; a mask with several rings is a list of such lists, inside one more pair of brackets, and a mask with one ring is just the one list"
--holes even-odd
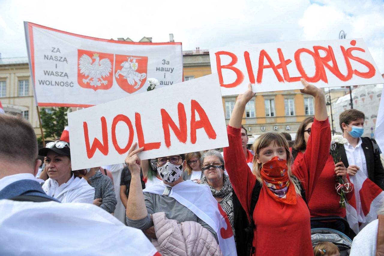
[(227, 148), (223, 148), (225, 170), (229, 175), (241, 205), (246, 209), (248, 220), (250, 219), (251, 196), (253, 187), (256, 184), (256, 176), (253, 175), (247, 160), (245, 159), (243, 147), (241, 145), (240, 128), (227, 127), (228, 143)]

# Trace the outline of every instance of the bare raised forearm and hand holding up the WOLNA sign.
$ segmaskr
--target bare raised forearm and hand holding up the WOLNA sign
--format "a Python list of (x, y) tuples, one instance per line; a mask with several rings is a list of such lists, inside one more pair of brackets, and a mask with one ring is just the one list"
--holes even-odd
[(141, 160), (136, 154), (141, 152), (144, 147), (136, 148), (137, 143), (134, 143), (128, 151), (125, 162), (131, 171), (131, 185), (129, 186), (128, 202), (126, 210), (127, 217), (133, 220), (144, 219), (147, 217), (147, 208), (144, 203), (144, 195), (141, 187), (140, 168)]

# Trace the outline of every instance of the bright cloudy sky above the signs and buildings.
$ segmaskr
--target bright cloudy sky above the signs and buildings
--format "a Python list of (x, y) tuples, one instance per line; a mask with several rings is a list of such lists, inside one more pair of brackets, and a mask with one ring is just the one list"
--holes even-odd
[(364, 38), (384, 73), (384, 2), (375, 0), (0, 0), (2, 58), (27, 56), (23, 21), (98, 38), (143, 36), (183, 50), (301, 40)]

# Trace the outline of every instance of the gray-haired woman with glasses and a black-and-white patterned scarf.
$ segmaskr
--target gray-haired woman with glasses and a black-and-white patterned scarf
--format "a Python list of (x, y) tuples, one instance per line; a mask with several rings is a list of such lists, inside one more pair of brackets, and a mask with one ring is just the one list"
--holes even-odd
[(246, 255), (247, 214), (233, 191), (228, 175), (224, 173), (224, 158), (219, 151), (209, 150), (200, 159), (204, 172), (201, 184), (209, 186), (212, 195), (227, 213), (235, 235), (237, 255)]

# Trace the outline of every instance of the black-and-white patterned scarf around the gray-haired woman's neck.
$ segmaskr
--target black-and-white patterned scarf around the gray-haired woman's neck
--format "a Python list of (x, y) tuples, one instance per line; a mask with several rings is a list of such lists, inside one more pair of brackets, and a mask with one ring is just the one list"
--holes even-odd
[(233, 213), (232, 184), (229, 181), (228, 175), (226, 175), (225, 173), (223, 173), (223, 181), (224, 181), (224, 185), (221, 188), (221, 190), (216, 190), (214, 187), (209, 185), (206, 177), (203, 177), (201, 179), (201, 184), (208, 185), (214, 197), (222, 198), (219, 204), (223, 208), (225, 213), (227, 213), (229, 222), (231, 223), (233, 234), (235, 234), (235, 229), (233, 228), (233, 222), (234, 222), (235, 216)]

